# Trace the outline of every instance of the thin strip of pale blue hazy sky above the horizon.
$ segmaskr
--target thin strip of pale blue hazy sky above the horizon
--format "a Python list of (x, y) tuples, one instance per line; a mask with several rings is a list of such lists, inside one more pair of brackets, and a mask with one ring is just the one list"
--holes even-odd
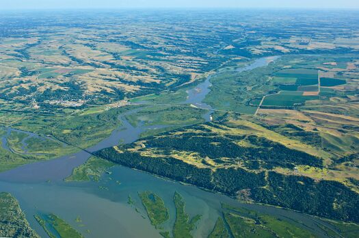
[(357, 8), (359, 0), (0, 0), (0, 10), (85, 8)]

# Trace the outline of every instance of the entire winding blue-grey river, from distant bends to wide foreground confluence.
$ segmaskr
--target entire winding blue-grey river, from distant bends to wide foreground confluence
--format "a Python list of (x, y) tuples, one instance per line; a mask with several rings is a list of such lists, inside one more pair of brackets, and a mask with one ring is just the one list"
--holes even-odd
[[(273, 58), (271, 58), (273, 59)], [(250, 66), (238, 69), (251, 70), (265, 66), (269, 58), (256, 60)], [(209, 109), (207, 119), (211, 114), (210, 105), (202, 103), (210, 92), (211, 77), (200, 83), (196, 88), (188, 91), (186, 103)], [(84, 163), (92, 152), (114, 146), (119, 142), (131, 143), (148, 129), (165, 127), (163, 125), (146, 127), (139, 123), (133, 127), (125, 118), (135, 113), (137, 109), (127, 111), (119, 117), (122, 126), (113, 131), (102, 142), (81, 150), (79, 153), (42, 161), (15, 168), (0, 173), (0, 191), (12, 193), (20, 202), (31, 226), (41, 235), (47, 237), (44, 230), (34, 219), (36, 213), (55, 213), (79, 230), (85, 237), (161, 237), (146, 217), (146, 211), (137, 196), (139, 191), (154, 191), (161, 196), (170, 209), (170, 220), (165, 222), (164, 228), (170, 230), (175, 220), (175, 208), (172, 200), (174, 191), (178, 191), (186, 202), (189, 215), (201, 214), (202, 219), (194, 231), (194, 237), (207, 237), (211, 232), (222, 208), (221, 202), (237, 207), (247, 207), (268, 214), (276, 214), (283, 220), (296, 222), (298, 226), (306, 227), (316, 235), (324, 237), (319, 226), (325, 224), (309, 215), (297, 213), (287, 209), (263, 206), (260, 204), (242, 204), (221, 194), (204, 191), (191, 185), (183, 185), (151, 174), (139, 172), (122, 166), (111, 168), (109, 174), (104, 174), (101, 181), (66, 183), (73, 168)], [(127, 204), (128, 196), (135, 204)], [(138, 212), (135, 211), (138, 209)], [(81, 222), (76, 218), (81, 217)]]

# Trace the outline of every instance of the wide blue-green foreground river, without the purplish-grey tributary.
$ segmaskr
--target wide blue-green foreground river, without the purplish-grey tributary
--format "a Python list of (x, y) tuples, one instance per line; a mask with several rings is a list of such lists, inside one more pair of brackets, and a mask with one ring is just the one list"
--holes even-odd
[[(36, 213), (55, 213), (86, 237), (103, 237), (104, 234), (106, 237), (159, 237), (158, 231), (150, 225), (146, 211), (137, 196), (139, 191), (148, 190), (161, 196), (169, 208), (170, 220), (163, 225), (168, 230), (174, 224), (175, 209), (172, 198), (174, 191), (178, 191), (186, 202), (187, 213), (191, 216), (202, 215), (194, 232), (195, 237), (209, 235), (222, 211), (221, 202), (274, 214), (284, 220), (298, 220), (301, 222), (297, 223), (298, 226), (304, 226), (317, 235), (324, 236), (318, 226), (323, 222), (302, 213), (258, 204), (241, 204), (221, 194), (157, 178), (122, 166), (115, 166), (110, 171), (112, 173), (105, 174), (98, 183), (56, 181), (27, 184), (1, 181), (0, 187), (1, 190), (9, 191), (18, 198), (29, 223), (44, 237), (46, 235), (42, 228), (34, 220)], [(103, 187), (107, 187), (108, 190)], [(129, 195), (135, 201), (133, 206), (127, 204)], [(139, 209), (139, 213), (135, 211), (135, 207)], [(75, 222), (77, 217), (81, 218), (81, 223)], [(87, 233), (88, 229), (90, 233)]]

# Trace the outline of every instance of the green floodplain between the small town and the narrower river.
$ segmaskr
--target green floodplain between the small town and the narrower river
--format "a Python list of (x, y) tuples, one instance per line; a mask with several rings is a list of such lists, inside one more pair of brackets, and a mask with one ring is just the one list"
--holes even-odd
[(124, 111), (127, 111), (127, 108), (84, 109), (72, 111), (72, 114), (62, 117), (34, 116), (24, 118), (12, 127), (40, 135), (51, 135), (72, 146), (88, 148), (120, 127), (118, 116)]

